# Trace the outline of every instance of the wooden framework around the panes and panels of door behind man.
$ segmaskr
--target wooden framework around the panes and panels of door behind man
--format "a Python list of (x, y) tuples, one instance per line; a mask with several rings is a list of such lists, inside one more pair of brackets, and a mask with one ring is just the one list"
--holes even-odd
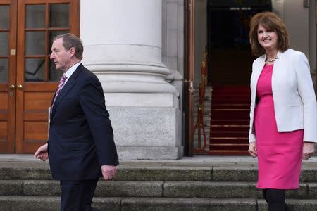
[[(25, 82), (25, 5), (26, 4), (46, 4), (46, 10), (49, 8), (49, 4), (65, 4), (70, 6), (69, 15), (69, 31), (79, 37), (80, 35), (80, 0), (18, 0), (18, 27), (17, 27), (17, 59), (20, 60), (20, 64), (16, 68), (16, 86), (23, 87), (16, 89), (16, 102), (15, 102), (15, 153), (32, 153), (36, 148), (46, 143), (47, 139), (41, 141), (25, 141), (25, 121), (33, 119), (42, 120), (48, 123), (49, 115), (48, 109), (46, 113), (25, 113), (25, 93), (44, 91), (51, 93), (53, 97), (58, 82), (49, 82), (48, 68), (50, 60), (50, 49), (46, 46), (47, 56), (46, 61), (46, 76), (45, 82)], [(77, 24), (72, 24), (77, 23)], [(29, 29), (30, 30), (30, 29)], [(31, 29), (33, 30), (33, 29)], [(46, 13), (46, 26), (45, 31), (53, 31), (54, 27), (49, 27), (49, 13)], [(61, 29), (59, 29), (61, 30)], [(46, 33), (46, 41), (49, 41), (48, 32)], [(23, 35), (21, 35), (23, 34)], [(31, 57), (30, 57), (31, 58)], [(47, 136), (46, 136), (47, 137)], [(30, 148), (30, 149), (28, 149)], [(32, 149), (31, 149), (32, 148)]]

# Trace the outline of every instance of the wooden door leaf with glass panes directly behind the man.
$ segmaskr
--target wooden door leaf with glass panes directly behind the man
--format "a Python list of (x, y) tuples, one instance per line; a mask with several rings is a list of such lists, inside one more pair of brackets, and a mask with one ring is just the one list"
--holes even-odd
[(47, 141), (48, 108), (62, 72), (49, 56), (52, 39), (79, 35), (78, 0), (18, 0), (16, 153), (34, 153)]

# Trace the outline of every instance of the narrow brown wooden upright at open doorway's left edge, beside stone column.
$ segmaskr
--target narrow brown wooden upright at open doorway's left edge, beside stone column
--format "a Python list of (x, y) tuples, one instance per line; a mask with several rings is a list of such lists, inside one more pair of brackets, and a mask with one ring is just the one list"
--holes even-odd
[(194, 11), (195, 0), (185, 1), (185, 155), (192, 156), (194, 148)]

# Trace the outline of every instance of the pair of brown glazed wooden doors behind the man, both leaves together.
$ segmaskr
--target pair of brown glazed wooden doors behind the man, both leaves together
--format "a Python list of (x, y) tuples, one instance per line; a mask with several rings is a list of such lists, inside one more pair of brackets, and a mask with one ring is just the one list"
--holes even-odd
[(0, 153), (34, 153), (47, 141), (48, 108), (61, 72), (52, 39), (79, 35), (79, 1), (0, 0)]

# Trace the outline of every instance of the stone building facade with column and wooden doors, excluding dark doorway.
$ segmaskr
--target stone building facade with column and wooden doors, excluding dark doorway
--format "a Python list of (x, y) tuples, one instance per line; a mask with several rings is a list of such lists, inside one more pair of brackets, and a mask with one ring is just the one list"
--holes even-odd
[[(61, 76), (49, 61), (51, 39), (71, 32), (103, 86), (120, 159), (191, 155), (190, 84), (201, 81), (209, 4), (216, 1), (0, 0), (0, 153), (33, 153), (46, 141)], [(316, 82), (315, 1), (270, 5)]]

